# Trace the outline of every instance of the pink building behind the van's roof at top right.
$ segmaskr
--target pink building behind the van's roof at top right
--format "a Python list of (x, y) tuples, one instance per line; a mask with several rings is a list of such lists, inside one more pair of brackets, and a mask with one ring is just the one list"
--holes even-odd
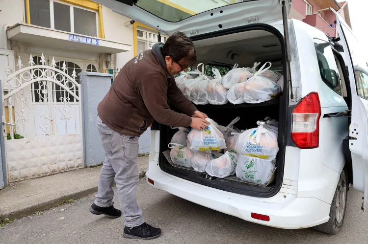
[(350, 26), (350, 16), (347, 1), (338, 3), (336, 0), (293, 0), (290, 19), (308, 23), (331, 37), (336, 36), (335, 14), (333, 8)]

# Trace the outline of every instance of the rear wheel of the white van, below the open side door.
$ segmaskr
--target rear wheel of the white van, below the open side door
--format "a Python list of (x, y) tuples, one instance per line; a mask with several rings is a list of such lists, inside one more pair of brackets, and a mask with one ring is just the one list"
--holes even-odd
[(337, 234), (342, 228), (345, 218), (347, 200), (347, 174), (343, 169), (331, 203), (330, 220), (313, 228), (329, 234)]

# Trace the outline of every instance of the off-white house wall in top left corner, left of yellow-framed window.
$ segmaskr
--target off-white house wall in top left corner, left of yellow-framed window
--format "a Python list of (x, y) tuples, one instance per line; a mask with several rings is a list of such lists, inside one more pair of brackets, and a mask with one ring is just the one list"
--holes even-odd
[[(14, 25), (23, 22), (24, 16), (24, 0), (0, 0), (0, 49), (4, 48), (4, 32), (5, 24)], [(8, 45), (8, 49), (10, 46)], [(1, 67), (0, 67), (1, 68)]]

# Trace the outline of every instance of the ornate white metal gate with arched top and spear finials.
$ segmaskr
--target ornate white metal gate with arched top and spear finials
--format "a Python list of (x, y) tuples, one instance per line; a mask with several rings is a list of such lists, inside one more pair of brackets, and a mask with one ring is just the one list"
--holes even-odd
[(83, 167), (80, 86), (66, 71), (34, 65), (5, 67), (2, 124), (9, 182)]

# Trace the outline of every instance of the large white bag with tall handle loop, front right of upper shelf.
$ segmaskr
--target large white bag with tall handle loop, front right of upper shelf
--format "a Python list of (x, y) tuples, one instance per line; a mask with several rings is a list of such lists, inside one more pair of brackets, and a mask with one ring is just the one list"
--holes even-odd
[[(266, 64), (269, 67), (264, 68)], [(272, 80), (262, 76), (263, 72), (271, 67), (271, 63), (265, 63), (252, 78), (245, 82), (243, 99), (246, 103), (262, 103), (271, 100), (280, 93), (280, 87)], [(263, 69), (264, 68), (264, 69)], [(229, 90), (230, 91), (230, 90)], [(230, 101), (230, 99), (229, 99)]]

